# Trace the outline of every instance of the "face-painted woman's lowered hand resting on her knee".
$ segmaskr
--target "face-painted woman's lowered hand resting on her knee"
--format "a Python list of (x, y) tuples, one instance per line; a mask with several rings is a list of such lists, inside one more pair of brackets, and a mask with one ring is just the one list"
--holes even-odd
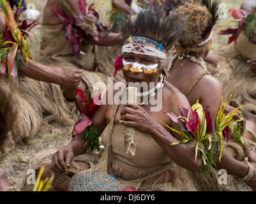
[(52, 171), (57, 174), (67, 174), (73, 157), (74, 152), (70, 145), (57, 150), (52, 156)]

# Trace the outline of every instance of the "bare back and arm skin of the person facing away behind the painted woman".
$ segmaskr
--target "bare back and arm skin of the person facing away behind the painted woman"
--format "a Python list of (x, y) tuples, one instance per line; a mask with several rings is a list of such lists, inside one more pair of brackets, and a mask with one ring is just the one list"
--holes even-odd
[[(200, 53), (199, 56), (204, 58), (207, 56), (207, 54), (208, 51)], [(167, 60), (165, 68), (168, 67), (169, 61), (170, 60)], [(181, 63), (184, 65), (180, 68), (179, 64)], [(202, 69), (202, 67), (195, 62), (191, 62), (188, 59), (176, 59), (172, 69), (169, 71), (170, 77), (167, 78), (167, 80), (171, 84), (175, 85), (183, 94), (186, 94), (186, 91), (188, 91), (190, 85), (203, 71), (204, 69)], [(213, 131), (215, 131), (216, 114), (220, 107), (222, 98), (222, 85), (220, 82), (211, 75), (205, 75), (201, 78), (199, 83), (195, 85), (187, 98), (191, 105), (195, 104), (197, 99), (199, 99), (199, 103), (204, 109), (209, 106), (208, 110), (213, 121)], [(232, 148), (228, 148), (227, 151), (231, 152), (232, 154), (234, 153), (234, 149)], [(248, 166), (234, 159), (236, 156), (235, 154), (234, 157), (231, 157), (227, 151), (223, 150), (221, 162), (218, 160), (216, 161), (216, 170), (225, 169), (230, 175), (235, 175), (236, 177), (245, 177), (249, 170)], [(253, 189), (253, 191), (256, 190), (255, 179), (256, 170), (254, 170), (252, 180), (246, 183)]]

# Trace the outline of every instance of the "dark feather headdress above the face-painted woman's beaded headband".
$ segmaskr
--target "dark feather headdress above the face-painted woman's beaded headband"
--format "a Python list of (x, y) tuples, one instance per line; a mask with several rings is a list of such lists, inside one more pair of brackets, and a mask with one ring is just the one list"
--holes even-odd
[(130, 16), (123, 13), (116, 19), (116, 26), (111, 31), (120, 33), (123, 39), (133, 34), (146, 35), (161, 41), (165, 45), (165, 50), (169, 50), (180, 38), (184, 38), (183, 29), (186, 18), (183, 17), (183, 23), (177, 22), (173, 12), (174, 7), (170, 15), (167, 15), (168, 10), (154, 5), (140, 11), (138, 15)]

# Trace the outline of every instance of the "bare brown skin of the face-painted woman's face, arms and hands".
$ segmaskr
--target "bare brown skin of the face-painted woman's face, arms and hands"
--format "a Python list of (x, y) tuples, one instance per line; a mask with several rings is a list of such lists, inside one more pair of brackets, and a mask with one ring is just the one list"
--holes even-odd
[[(134, 61), (141, 64), (155, 64), (157, 59), (151, 56), (146, 55), (136, 55), (136, 54), (124, 54), (124, 59), (126, 61)], [(159, 71), (161, 68), (159, 69)], [(124, 79), (122, 82), (117, 82), (117, 85), (124, 82), (158, 82), (160, 72), (152, 73), (146, 75), (144, 73), (132, 73), (132, 71), (124, 71), (123, 75)], [(119, 84), (118, 84), (119, 83)], [(117, 92), (113, 90), (114, 94)], [(107, 96), (107, 94), (106, 94)], [(195, 147), (190, 143), (181, 143), (179, 145), (170, 146), (170, 143), (179, 142), (183, 140), (181, 136), (176, 133), (172, 133), (169, 128), (164, 126), (160, 120), (162, 120), (165, 124), (171, 126), (172, 128), (179, 129), (177, 124), (172, 123), (169, 117), (164, 114), (164, 112), (173, 112), (174, 114), (181, 115), (178, 105), (183, 106), (184, 108), (190, 108), (190, 104), (186, 97), (181, 94), (180, 91), (177, 90), (172, 84), (166, 82), (163, 86), (163, 101), (167, 99), (170, 100), (172, 98), (171, 103), (164, 103), (162, 106), (162, 110), (160, 112), (151, 112), (150, 107), (151, 104), (139, 106), (139, 105), (119, 105), (117, 108), (116, 119), (119, 120), (121, 124), (124, 126), (130, 126), (135, 128), (141, 132), (149, 133), (154, 140), (165, 150), (170, 159), (177, 163), (179, 166), (186, 168), (190, 171), (197, 172), (202, 165), (202, 161), (200, 156), (197, 157), (197, 162), (195, 163)], [(109, 103), (111, 104), (113, 98), (108, 98)], [(102, 105), (99, 108), (93, 117), (94, 126), (98, 128), (100, 132), (105, 128), (107, 121), (110, 121), (112, 117), (112, 112), (115, 105)], [(102, 115), (104, 117), (102, 117)], [(73, 138), (72, 142), (70, 142), (66, 147), (59, 149), (52, 158), (52, 165), (47, 166), (46, 169), (52, 170), (58, 174), (67, 174), (72, 175), (68, 170), (70, 167), (68, 164), (71, 163), (73, 157), (77, 154), (82, 154), (86, 152), (87, 148), (84, 147), (84, 143), (86, 141), (82, 138), (81, 135), (77, 135)], [(186, 152), (186, 154), (184, 154)], [(45, 171), (43, 177), (49, 177), (49, 172)], [(123, 178), (125, 179), (125, 173), (123, 172)], [(163, 175), (163, 180), (166, 179), (167, 175)], [(56, 177), (57, 178), (57, 177)], [(167, 180), (172, 180), (173, 175), (170, 172)], [(66, 183), (61, 184), (57, 187), (56, 190), (65, 190), (67, 188)]]

